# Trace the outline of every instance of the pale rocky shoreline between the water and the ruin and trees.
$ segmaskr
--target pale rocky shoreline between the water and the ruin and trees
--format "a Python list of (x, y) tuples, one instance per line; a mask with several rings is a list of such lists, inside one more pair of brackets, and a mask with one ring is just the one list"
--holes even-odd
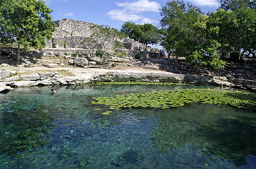
[[(83, 55), (83, 58), (88, 60), (86, 65), (73, 65), (74, 59), (77, 58), (71, 61), (71, 56), (61, 54), (57, 57), (27, 56), (23, 58), (22, 65), (2, 63), (0, 92), (26, 86), (84, 85), (104, 81), (174, 82), (218, 86), (222, 84), (256, 91), (256, 70), (252, 61), (245, 61), (242, 65), (228, 63), (223, 70), (215, 71), (207, 67), (195, 68), (181, 59), (178, 63), (179, 71), (172, 57), (136, 60), (129, 57), (102, 59)], [(1, 59), (3, 60), (3, 57)], [(8, 61), (8, 58), (6, 59)]]

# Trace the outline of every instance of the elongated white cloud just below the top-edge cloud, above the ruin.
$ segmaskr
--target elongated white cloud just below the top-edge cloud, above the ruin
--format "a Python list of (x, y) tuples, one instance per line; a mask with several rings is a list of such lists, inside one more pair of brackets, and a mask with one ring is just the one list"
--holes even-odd
[(128, 21), (128, 20), (135, 21), (143, 18), (142, 15), (130, 14), (126, 10), (118, 10), (118, 9), (111, 10), (110, 12), (107, 13), (107, 15), (110, 15), (110, 18), (112, 20), (121, 20), (121, 21)]

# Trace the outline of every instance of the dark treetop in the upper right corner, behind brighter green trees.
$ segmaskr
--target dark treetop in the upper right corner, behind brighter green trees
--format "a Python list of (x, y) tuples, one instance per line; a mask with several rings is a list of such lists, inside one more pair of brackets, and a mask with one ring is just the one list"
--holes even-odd
[(256, 0), (221, 0), (220, 9), (234, 11), (238, 8), (248, 6), (248, 8), (253, 9), (256, 6)]

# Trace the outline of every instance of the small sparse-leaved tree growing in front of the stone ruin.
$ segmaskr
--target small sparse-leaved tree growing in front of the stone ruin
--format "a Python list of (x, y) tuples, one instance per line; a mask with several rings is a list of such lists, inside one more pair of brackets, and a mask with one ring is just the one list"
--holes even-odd
[[(104, 55), (106, 42), (110, 42), (113, 46), (115, 46), (115, 44), (118, 43), (122, 38), (126, 37), (122, 32), (118, 31), (117, 29), (110, 28), (108, 25), (94, 25), (91, 26), (90, 29), (93, 32), (92, 35), (85, 38), (82, 44), (86, 46), (100, 44), (104, 47)], [(95, 48), (95, 46), (93, 46), (93, 48)]]

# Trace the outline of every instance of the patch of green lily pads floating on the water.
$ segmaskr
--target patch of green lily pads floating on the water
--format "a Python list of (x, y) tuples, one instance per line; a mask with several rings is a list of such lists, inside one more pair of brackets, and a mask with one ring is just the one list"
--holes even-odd
[(255, 94), (241, 91), (212, 89), (184, 89), (176, 91), (154, 91), (148, 93), (130, 93), (113, 97), (97, 97), (93, 104), (109, 105), (110, 109), (121, 107), (170, 108), (184, 106), (186, 103), (229, 104), (238, 108), (255, 107)]

